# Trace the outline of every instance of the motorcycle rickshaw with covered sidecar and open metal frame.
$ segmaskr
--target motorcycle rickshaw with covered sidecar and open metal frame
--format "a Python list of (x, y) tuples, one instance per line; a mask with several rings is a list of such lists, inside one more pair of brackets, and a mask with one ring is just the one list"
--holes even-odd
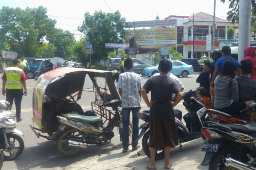
[[(93, 91), (83, 89), (86, 75), (93, 82)], [(104, 87), (98, 85), (101, 78), (106, 81)], [(95, 93), (91, 110), (86, 112), (77, 103), (83, 91)], [(87, 147), (109, 143), (115, 136), (115, 127), (122, 138), (121, 103), (111, 72), (59, 67), (44, 73), (34, 86), (33, 121), (39, 128), (30, 127), (37, 137), (56, 140), (61, 155), (76, 156)], [(130, 122), (130, 139), (131, 136)]]

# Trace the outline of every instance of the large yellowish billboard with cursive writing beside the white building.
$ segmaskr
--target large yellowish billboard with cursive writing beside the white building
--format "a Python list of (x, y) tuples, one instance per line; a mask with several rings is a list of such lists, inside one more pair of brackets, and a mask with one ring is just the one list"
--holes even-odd
[(156, 53), (161, 47), (174, 47), (177, 44), (176, 28), (126, 30), (125, 43), (137, 48), (137, 54)]

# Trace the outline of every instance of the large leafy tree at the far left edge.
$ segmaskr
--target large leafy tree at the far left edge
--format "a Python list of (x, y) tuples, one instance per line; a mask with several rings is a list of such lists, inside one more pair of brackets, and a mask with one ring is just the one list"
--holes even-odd
[(56, 21), (46, 13), (43, 6), (25, 10), (3, 6), (0, 10), (1, 50), (10, 49), (16, 43), (19, 55), (36, 56), (43, 46), (43, 38), (56, 30)]

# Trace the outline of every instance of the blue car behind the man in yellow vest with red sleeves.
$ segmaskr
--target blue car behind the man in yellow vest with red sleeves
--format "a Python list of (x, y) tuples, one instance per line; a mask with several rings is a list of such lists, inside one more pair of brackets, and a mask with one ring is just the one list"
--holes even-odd
[(29, 71), (27, 72), (27, 78), (28, 79), (33, 79), (34, 78), (34, 73), (38, 71), (38, 68), (42, 61), (44, 61), (47, 58), (25, 58), (28, 62), (29, 65)]

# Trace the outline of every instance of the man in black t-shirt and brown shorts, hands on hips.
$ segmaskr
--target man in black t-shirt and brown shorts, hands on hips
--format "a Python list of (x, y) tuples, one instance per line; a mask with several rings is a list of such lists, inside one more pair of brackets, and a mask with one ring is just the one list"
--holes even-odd
[[(156, 169), (156, 148), (165, 148), (165, 169), (170, 169), (172, 165), (169, 162), (170, 150), (178, 145), (173, 106), (182, 100), (183, 94), (176, 81), (167, 76), (171, 68), (172, 63), (168, 59), (162, 59), (158, 67), (160, 74), (148, 79), (141, 90), (145, 103), (150, 107), (151, 164), (146, 166), (150, 170)], [(151, 101), (147, 97), (150, 91)], [(177, 96), (174, 102), (172, 102), (172, 94)]]

